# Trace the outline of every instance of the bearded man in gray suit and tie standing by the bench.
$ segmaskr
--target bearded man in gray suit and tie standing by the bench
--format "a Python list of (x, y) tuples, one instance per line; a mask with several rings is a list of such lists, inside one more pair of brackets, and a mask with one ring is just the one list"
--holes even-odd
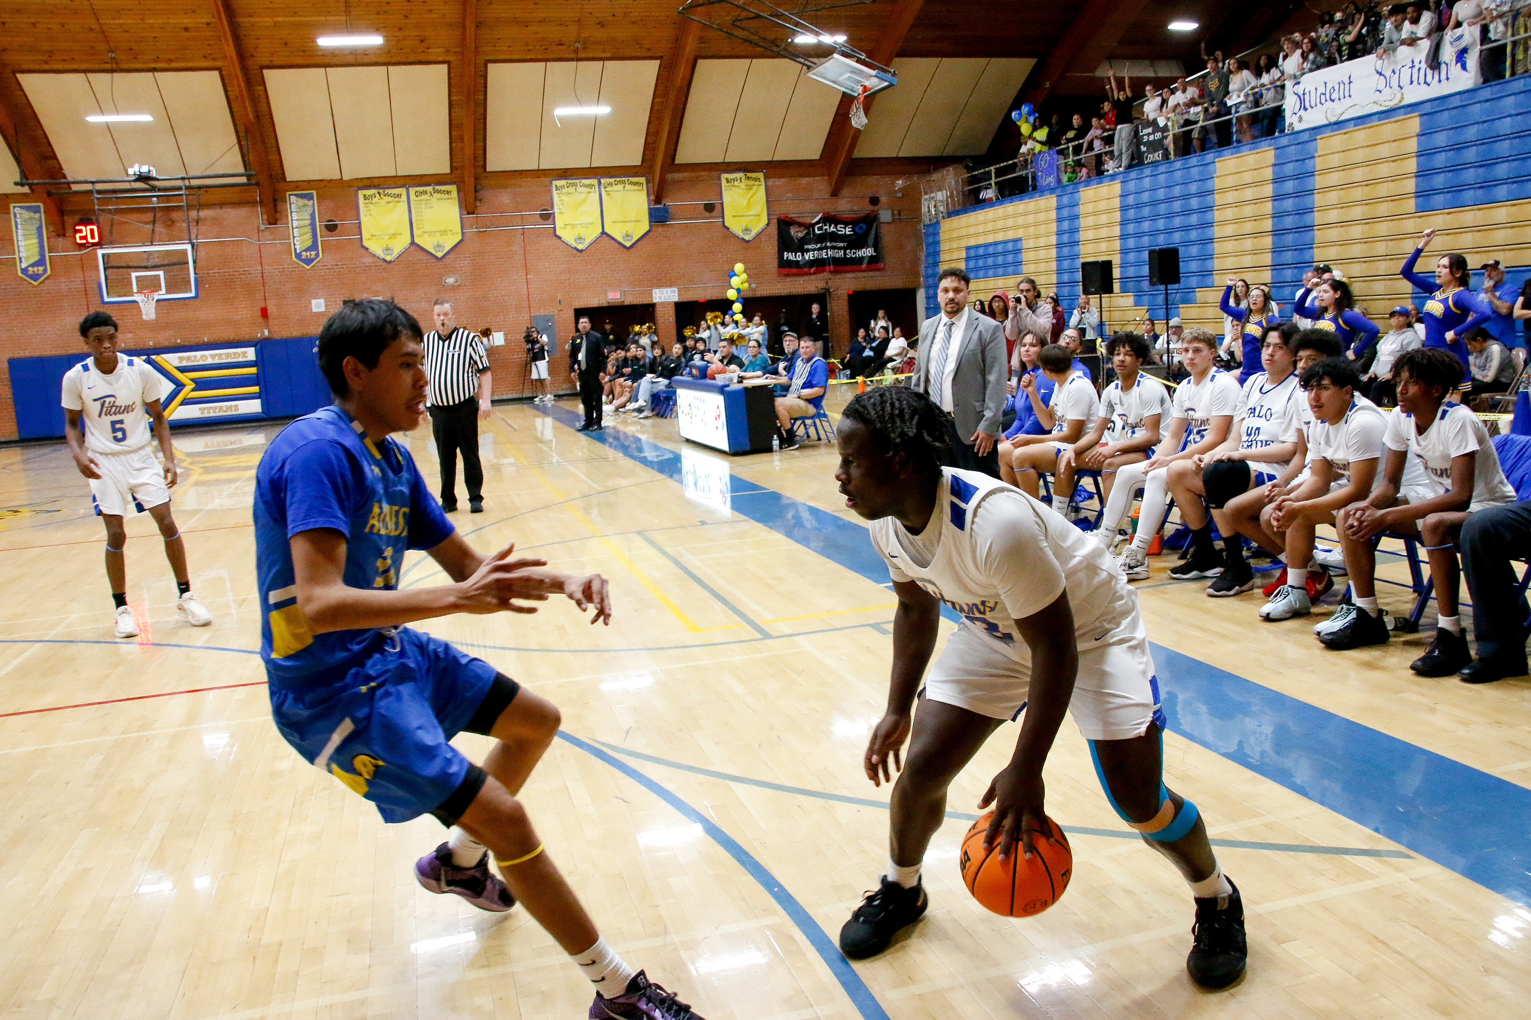
[(942, 269), (935, 300), (942, 313), (920, 326), (911, 385), (949, 411), (952, 466), (1000, 477), (1000, 419), (1004, 413), (1004, 329), (968, 307), (968, 274)]

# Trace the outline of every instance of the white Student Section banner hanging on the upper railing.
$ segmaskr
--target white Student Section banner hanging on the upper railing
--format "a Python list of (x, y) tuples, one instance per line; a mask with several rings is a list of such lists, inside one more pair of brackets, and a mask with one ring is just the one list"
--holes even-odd
[(1286, 130), (1433, 99), (1479, 84), (1477, 29), (1312, 70), (1286, 87)]

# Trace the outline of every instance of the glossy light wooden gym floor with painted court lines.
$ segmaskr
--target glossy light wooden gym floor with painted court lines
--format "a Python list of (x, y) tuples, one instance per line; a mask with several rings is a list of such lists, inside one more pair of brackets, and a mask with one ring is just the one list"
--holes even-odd
[[(562, 707), (525, 789), (539, 830), (611, 942), (709, 1020), (1531, 1014), (1531, 684), (1415, 677), (1428, 627), (1326, 653), (1312, 621), (1262, 624), (1258, 593), (1206, 599), (1168, 558), (1138, 586), (1167, 781), (1243, 890), (1248, 976), (1188, 982), (1190, 895), (1112, 812), (1072, 723), (1047, 766), (1076, 856), (1058, 905), (997, 918), (957, 876), (1007, 726), (952, 789), (928, 918), (850, 966), (834, 937), (886, 859), (888, 791), (859, 763), (893, 596), (833, 450), (730, 460), (661, 419), (586, 437), (571, 407), (496, 408), (488, 512), (456, 521), (481, 547), (606, 573), (611, 629), (562, 603), (429, 629)], [(176, 436), (176, 518), (216, 622), (175, 615), (138, 517), (138, 641), (112, 638), (101, 526), (64, 447), (0, 451), (0, 1015), (585, 1015), (588, 985), (525, 911), (413, 882), (436, 821), (384, 826), (277, 736), (250, 528), (276, 431)], [(433, 479), (429, 427), (409, 440)], [(404, 583), (438, 581), (412, 555)]]

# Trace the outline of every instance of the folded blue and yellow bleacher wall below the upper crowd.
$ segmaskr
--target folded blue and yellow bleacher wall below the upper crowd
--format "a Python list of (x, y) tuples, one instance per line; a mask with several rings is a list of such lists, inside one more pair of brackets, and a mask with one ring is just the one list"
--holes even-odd
[[(1396, 113), (1260, 139), (1040, 194), (961, 210), (925, 228), (926, 309), (935, 272), (957, 265), (987, 298), (1035, 277), (1066, 309), (1079, 297), (1079, 263), (1110, 258), (1118, 294), (1101, 301), (1107, 327), (1144, 312), (1164, 330), (1162, 287), (1148, 284), (1148, 249), (1180, 249), (1170, 315), (1222, 332), (1228, 277), (1269, 283), (1291, 315), (1303, 269), (1341, 269), (1379, 323), (1407, 304), (1398, 275), (1427, 226), (1430, 255), (1499, 258), (1514, 303), (1531, 266), (1531, 76), (1480, 86)], [(1421, 260), (1433, 275), (1433, 260)], [(1386, 324), (1384, 324), (1386, 327)]]

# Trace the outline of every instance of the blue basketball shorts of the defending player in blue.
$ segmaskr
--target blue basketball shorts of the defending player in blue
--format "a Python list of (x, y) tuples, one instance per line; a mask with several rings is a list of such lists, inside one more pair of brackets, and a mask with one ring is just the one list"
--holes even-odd
[(487, 774), (449, 742), (487, 734), (521, 687), (446, 641), (400, 627), (329, 682), (271, 677), (271, 714), (292, 748), (377, 804), (383, 821), (455, 824)]

